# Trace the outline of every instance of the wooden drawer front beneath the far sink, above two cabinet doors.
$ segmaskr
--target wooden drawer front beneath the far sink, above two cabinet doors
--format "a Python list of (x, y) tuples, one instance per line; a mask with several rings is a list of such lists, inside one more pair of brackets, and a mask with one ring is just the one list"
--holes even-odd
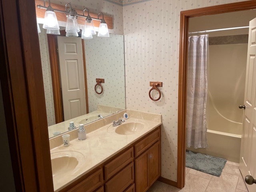
[(160, 140), (160, 128), (157, 128), (149, 136), (147, 136), (146, 138), (144, 138), (142, 141), (138, 142), (134, 146), (135, 157), (142, 154), (145, 150), (147, 150), (157, 140)]

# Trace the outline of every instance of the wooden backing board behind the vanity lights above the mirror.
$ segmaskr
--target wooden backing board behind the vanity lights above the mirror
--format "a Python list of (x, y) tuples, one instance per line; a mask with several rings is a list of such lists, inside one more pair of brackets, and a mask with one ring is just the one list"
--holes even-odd
[[(68, 2), (68, 1), (67, 1)], [(36, 17), (38, 18), (44, 18), (44, 14), (45, 14), (45, 9), (40, 9), (37, 7), (37, 5), (43, 5), (44, 4), (44, 1), (42, 0), (35, 0), (35, 6), (36, 6)], [(46, 2), (46, 6), (48, 6), (48, 2)], [(63, 10), (65, 11), (65, 6), (63, 5), (58, 5), (58, 4), (54, 4), (54, 3), (51, 3), (51, 6), (52, 8), (54, 9), (58, 9), (58, 10)], [(79, 9), (75, 9), (76, 12), (79, 14), (79, 15), (82, 15), (83, 14), (83, 10), (79, 10)], [(63, 21), (63, 22), (66, 22), (67, 21), (67, 18), (66, 18), (66, 15), (64, 13), (60, 13), (60, 12), (55, 12), (56, 13), (56, 16), (57, 16), (57, 19), (58, 21)], [(87, 12), (86, 12), (87, 13)], [(90, 12), (90, 16), (93, 17), (93, 18), (98, 18), (98, 14), (95, 14), (95, 13), (92, 13)], [(102, 16), (100, 16), (100, 18), (102, 18)], [(104, 15), (104, 20), (106, 21), (106, 24), (108, 25), (108, 28), (109, 29), (113, 29), (113, 18), (110, 17), (110, 16), (105, 16)], [(81, 25), (84, 25), (85, 23), (85, 18), (82, 18), (82, 17), (78, 17), (77, 18), (77, 22), (78, 24), (81, 24)], [(100, 26), (100, 21), (98, 20), (94, 20), (93, 21), (94, 23), (94, 26), (95, 27), (99, 27)]]

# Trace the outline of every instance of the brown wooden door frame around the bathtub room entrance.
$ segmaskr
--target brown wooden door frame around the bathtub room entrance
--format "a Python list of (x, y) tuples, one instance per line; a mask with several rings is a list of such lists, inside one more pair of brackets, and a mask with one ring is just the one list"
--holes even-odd
[(177, 187), (185, 186), (186, 160), (186, 84), (188, 55), (188, 25), (189, 18), (220, 14), (256, 8), (256, 0), (210, 6), (180, 12), (180, 54), (179, 54), (179, 86), (178, 86), (178, 162)]

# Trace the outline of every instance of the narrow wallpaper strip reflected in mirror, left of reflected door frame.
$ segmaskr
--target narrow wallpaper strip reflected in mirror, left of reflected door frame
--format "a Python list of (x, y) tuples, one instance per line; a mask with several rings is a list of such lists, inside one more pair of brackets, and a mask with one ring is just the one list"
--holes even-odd
[(42, 28), (42, 24), (40, 24), (40, 30), (41, 30), (41, 33), (39, 33), (38, 36), (39, 36), (43, 80), (44, 80), (44, 96), (45, 96), (45, 103), (46, 103), (47, 122), (48, 122), (48, 126), (51, 126), (56, 123), (53, 92), (52, 92), (52, 75), (51, 75), (51, 67), (50, 67), (50, 60), (49, 60), (47, 34), (46, 34), (46, 30)]

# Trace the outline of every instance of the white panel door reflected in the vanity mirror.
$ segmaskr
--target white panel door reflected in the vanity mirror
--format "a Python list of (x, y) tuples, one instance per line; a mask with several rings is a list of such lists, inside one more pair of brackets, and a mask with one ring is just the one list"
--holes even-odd
[(86, 114), (81, 38), (58, 36), (64, 120)]

